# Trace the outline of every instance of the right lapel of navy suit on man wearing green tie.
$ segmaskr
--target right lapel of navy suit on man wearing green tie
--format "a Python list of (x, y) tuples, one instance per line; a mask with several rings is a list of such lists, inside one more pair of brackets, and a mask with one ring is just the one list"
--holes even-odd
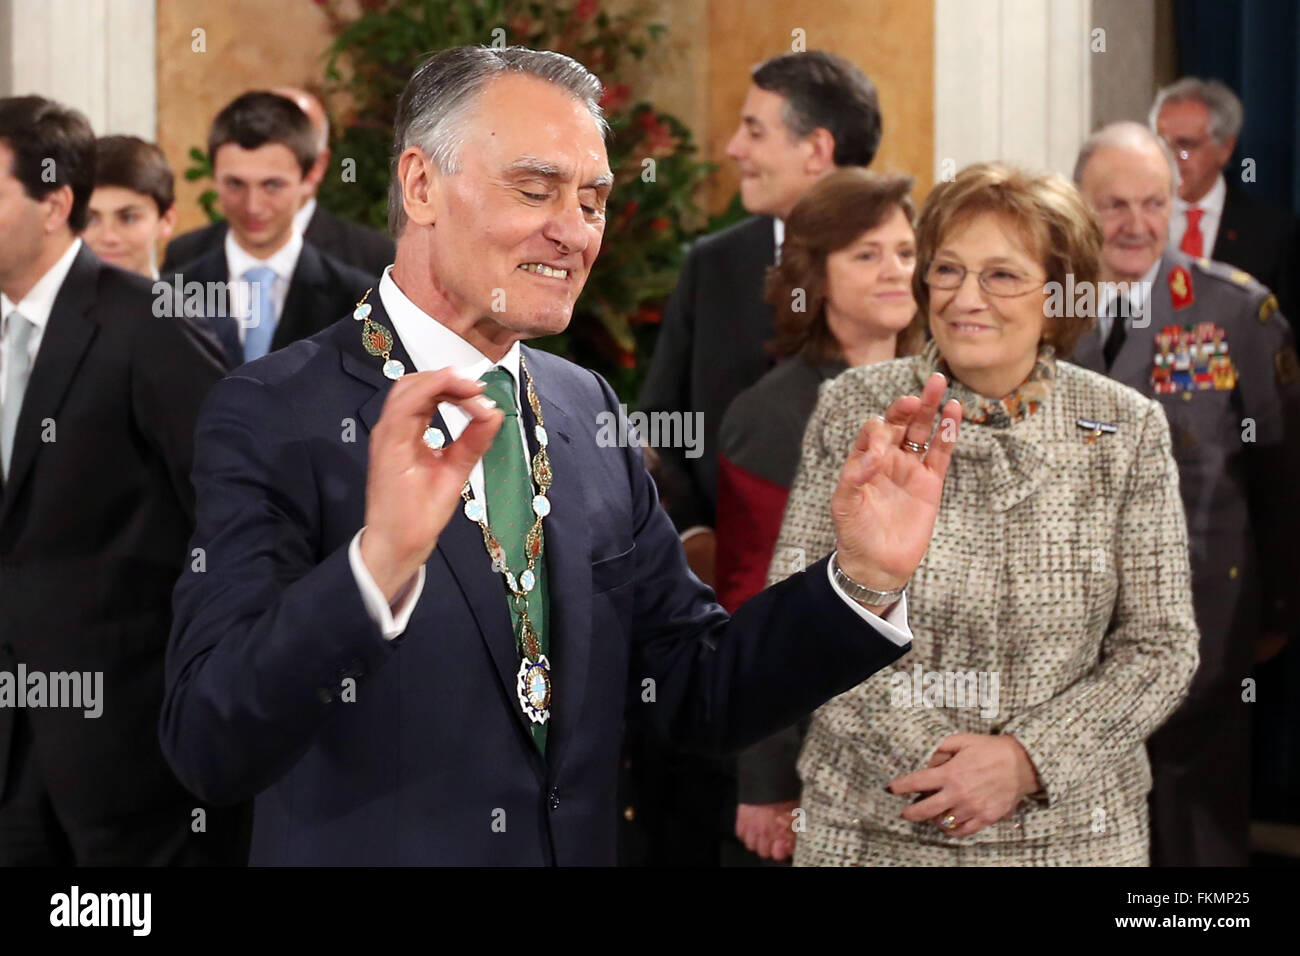
[[(543, 360), (533, 349), (523, 349), (533, 386), (542, 406), (550, 438), (546, 451), (555, 475), (547, 497), (551, 512), (543, 522), (546, 580), (550, 601), (549, 658), (554, 670), (551, 728), (546, 757), (559, 769), (568, 753), (582, 708), (586, 671), (592, 656), (592, 540), (588, 528), (588, 496), (582, 462), (573, 449), (577, 434), (573, 420), (556, 401), (554, 382), (538, 377)], [(533, 425), (537, 424), (526, 397), (523, 402), (524, 432), (529, 453), (537, 453)]]

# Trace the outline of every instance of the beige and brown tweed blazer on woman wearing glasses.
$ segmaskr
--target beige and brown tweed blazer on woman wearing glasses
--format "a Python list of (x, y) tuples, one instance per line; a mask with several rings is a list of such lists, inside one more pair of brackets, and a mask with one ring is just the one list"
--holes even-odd
[[(1197, 665), (1178, 468), (1158, 403), (1044, 358), (1054, 375), (1032, 414), (961, 427), (907, 587), (911, 654), (812, 717), (798, 865), (1148, 864), (1143, 741)], [(833, 550), (854, 436), (937, 364), (931, 343), (823, 386), (770, 584)], [(956, 381), (949, 397), (989, 405)], [(909, 799), (885, 784), (950, 734), (1014, 735), (1043, 791), (971, 836), (902, 819)]]

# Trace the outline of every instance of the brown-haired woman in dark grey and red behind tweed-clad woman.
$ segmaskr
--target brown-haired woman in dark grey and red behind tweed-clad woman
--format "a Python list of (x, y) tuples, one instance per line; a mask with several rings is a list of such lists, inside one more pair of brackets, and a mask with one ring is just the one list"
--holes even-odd
[[(911, 187), (904, 176), (841, 169), (785, 221), (766, 286), (776, 313), (768, 350), (781, 362), (736, 397), (718, 432), (716, 591), (731, 611), (764, 587), (818, 389), (846, 368), (911, 354), (924, 336)], [(798, 555), (790, 566), (802, 567)], [(762, 857), (790, 853), (798, 741), (792, 727), (740, 760), (736, 835)]]

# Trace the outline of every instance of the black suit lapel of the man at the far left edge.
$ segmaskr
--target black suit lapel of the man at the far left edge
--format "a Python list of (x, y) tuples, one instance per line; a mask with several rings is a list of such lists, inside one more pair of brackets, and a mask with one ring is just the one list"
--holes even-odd
[(13, 462), (9, 466), (9, 480), (5, 483), (0, 520), (18, 499), (18, 490), (35, 460), (42, 444), (42, 423), (46, 419), (57, 420), (58, 408), (73, 375), (99, 329), (88, 312), (95, 304), (95, 286), (100, 268), (99, 260), (83, 245), (55, 298), (18, 412)]

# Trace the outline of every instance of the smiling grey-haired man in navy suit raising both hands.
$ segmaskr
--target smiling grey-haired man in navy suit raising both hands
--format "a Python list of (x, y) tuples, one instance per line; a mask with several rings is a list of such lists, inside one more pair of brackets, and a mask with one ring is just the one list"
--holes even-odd
[(629, 700), (723, 750), (909, 645), (961, 418), (941, 376), (845, 449), (836, 555), (728, 620), (610, 386), (520, 346), (566, 328), (599, 250), (599, 95), (558, 53), (428, 60), (395, 265), (200, 414), (161, 740), (196, 793), (255, 799), (255, 864), (611, 864)]

